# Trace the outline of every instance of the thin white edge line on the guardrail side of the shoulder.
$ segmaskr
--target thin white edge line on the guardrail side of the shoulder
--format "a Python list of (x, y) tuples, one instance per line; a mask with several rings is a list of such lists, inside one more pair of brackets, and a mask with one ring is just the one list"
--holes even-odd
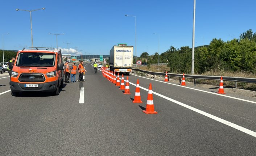
[[(134, 75), (134, 74), (131, 74), (131, 75)], [(134, 76), (137, 76), (137, 75), (134, 75)], [(138, 76), (138, 77), (142, 77), (142, 76)], [(149, 79), (147, 77), (142, 77), (142, 78)], [(250, 102), (250, 103), (256, 104), (255, 101), (245, 100), (245, 99), (241, 99), (241, 98), (237, 98), (237, 97), (232, 97), (232, 96), (227, 96), (227, 95), (223, 95), (223, 94), (218, 94), (218, 93), (214, 93), (214, 92), (208, 92), (208, 91), (205, 91), (205, 90), (200, 90), (200, 89), (195, 89), (195, 88), (189, 88), (189, 87), (185, 87), (185, 86), (182, 86), (182, 85), (167, 83), (167, 82), (164, 82), (164, 81), (159, 81), (159, 80), (154, 80), (154, 79), (149, 79), (149, 80), (158, 81), (158, 82), (166, 83), (166, 84), (170, 84), (170, 85), (176, 85), (178, 87), (184, 87), (184, 88), (188, 88), (188, 89), (197, 90), (197, 91), (200, 91), (200, 92), (210, 93), (210, 94), (214, 94), (214, 95), (218, 95), (218, 96), (224, 96), (224, 97), (233, 98), (233, 99), (236, 99), (236, 100), (240, 100), (240, 101), (245, 101), (245, 102)]]

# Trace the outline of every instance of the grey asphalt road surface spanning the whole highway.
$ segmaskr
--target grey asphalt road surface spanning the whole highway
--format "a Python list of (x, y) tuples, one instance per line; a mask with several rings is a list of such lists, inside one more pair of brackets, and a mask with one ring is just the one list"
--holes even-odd
[[(9, 90), (9, 78), (0, 75), (1, 156), (256, 155), (255, 136), (156, 94), (158, 114), (144, 114), (146, 90), (140, 89), (143, 104), (133, 104), (135, 86), (130, 84), (131, 94), (125, 95), (100, 71), (94, 73), (91, 64), (85, 68), (85, 82), (66, 84), (59, 96), (12, 97), (3, 93)], [(148, 89), (152, 83), (153, 92), (256, 132), (255, 103), (129, 76), (133, 84), (137, 79), (140, 87)], [(81, 87), (83, 104), (79, 104)]]

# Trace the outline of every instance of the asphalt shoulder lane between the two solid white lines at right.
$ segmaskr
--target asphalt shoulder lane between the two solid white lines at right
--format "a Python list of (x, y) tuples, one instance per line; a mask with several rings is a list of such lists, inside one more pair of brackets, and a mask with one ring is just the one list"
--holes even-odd
[[(140, 80), (140, 86), (148, 88), (152, 83), (154, 92), (195, 107), (232, 123), (256, 131), (256, 104), (222, 97), (214, 94), (191, 90), (176, 85), (168, 85), (159, 81), (145, 79), (135, 75), (129, 76), (129, 81), (136, 84)], [(134, 90), (133, 90), (134, 92)], [(229, 93), (228, 93), (229, 94)], [(145, 95), (146, 96), (146, 95)], [(254, 100), (243, 97), (246, 100)], [(170, 102), (168, 102), (170, 104)]]

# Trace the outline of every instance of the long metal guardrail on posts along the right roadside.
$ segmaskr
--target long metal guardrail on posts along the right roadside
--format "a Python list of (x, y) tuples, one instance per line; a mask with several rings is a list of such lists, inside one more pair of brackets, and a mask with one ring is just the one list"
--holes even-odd
[[(143, 73), (148, 73), (150, 75), (164, 75), (165, 73), (161, 73), (161, 72), (151, 72), (151, 71), (144, 71), (144, 70), (140, 70), (140, 69), (132, 69), (133, 71), (136, 72), (143, 72)], [(175, 74), (175, 73), (167, 73), (167, 76), (169, 78), (169, 76), (171, 77), (179, 77), (179, 82), (181, 82), (181, 77), (183, 76), (183, 74)], [(206, 75), (185, 75), (186, 78), (189, 79), (194, 79), (194, 85), (195, 85), (195, 79), (204, 79), (204, 80), (220, 80), (220, 76), (206, 76)], [(245, 77), (227, 77), (227, 76), (223, 76), (223, 81), (234, 81), (235, 82), (235, 87), (237, 88), (237, 82), (244, 82), (244, 83), (256, 83), (256, 79), (253, 78), (245, 78)]]

